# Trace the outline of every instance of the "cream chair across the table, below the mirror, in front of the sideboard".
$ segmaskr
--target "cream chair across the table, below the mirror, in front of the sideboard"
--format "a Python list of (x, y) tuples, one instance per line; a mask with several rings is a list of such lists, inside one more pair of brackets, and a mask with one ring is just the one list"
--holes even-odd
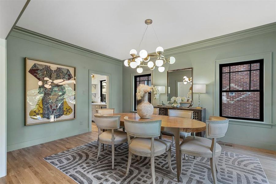
[[(191, 110), (177, 110), (177, 109), (168, 109), (168, 116), (172, 117), (182, 117), (182, 118), (190, 118), (193, 119), (194, 113)], [(174, 135), (172, 132), (163, 130), (161, 131), (161, 139), (162, 134), (172, 136), (172, 144), (174, 142)], [(190, 136), (191, 132), (180, 132), (180, 138), (185, 139), (185, 137)], [(194, 133), (195, 135), (195, 133)]]

